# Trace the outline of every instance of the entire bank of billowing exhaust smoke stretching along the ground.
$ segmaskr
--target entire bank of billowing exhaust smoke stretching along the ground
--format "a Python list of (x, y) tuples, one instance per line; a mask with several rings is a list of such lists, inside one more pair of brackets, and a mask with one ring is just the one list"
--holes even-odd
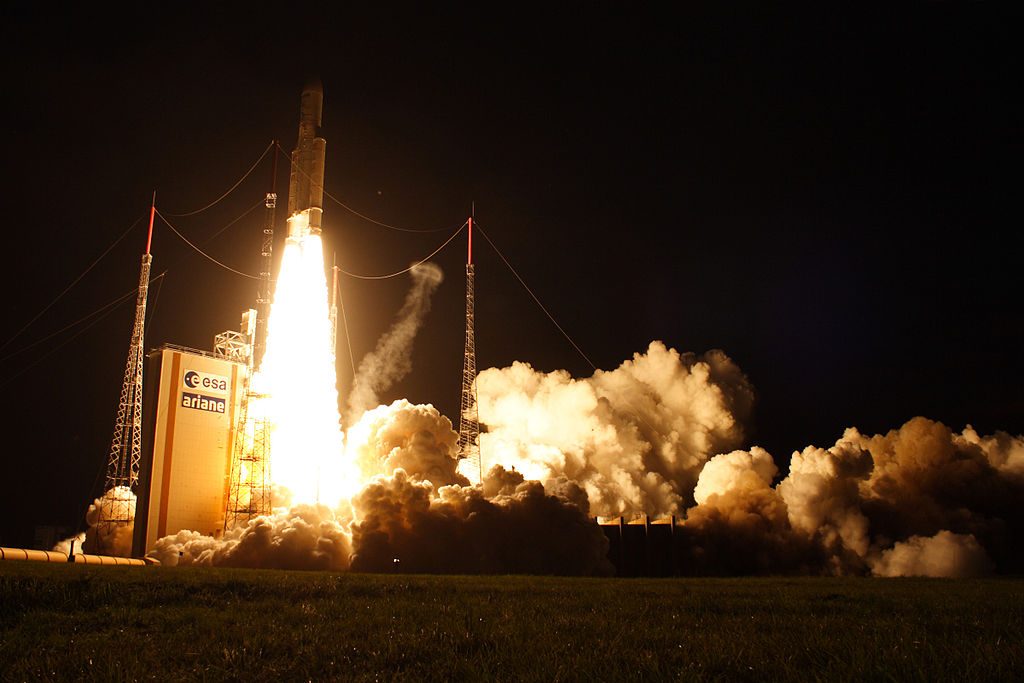
[(167, 564), (600, 575), (612, 567), (591, 515), (647, 513), (678, 515), (680, 573), (1024, 570), (1020, 436), (914, 418), (885, 434), (849, 428), (780, 472), (764, 449), (739, 450), (753, 390), (720, 351), (653, 342), (587, 379), (516, 362), (477, 381), (489, 467), (478, 484), (459, 472), (449, 418), (396, 400), (347, 431), (362, 481), (347, 505), (281, 509), (223, 539), (182, 531), (153, 554)]

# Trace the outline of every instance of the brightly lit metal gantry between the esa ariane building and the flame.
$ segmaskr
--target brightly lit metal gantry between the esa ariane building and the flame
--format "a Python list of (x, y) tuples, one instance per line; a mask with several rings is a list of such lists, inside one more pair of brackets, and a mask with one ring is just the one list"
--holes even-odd
[[(252, 313), (256, 313), (255, 319)], [(224, 530), (244, 525), (250, 519), (271, 512), (269, 428), (266, 418), (259, 415), (259, 401), (265, 395), (252, 389), (253, 361), (256, 337), (256, 311), (248, 311), (242, 317), (243, 336), (248, 342), (241, 356), (232, 359), (246, 364), (242, 386), (242, 400), (239, 405), (239, 421), (234, 426), (234, 444), (231, 450), (231, 470), (227, 485), (227, 504), (224, 509)], [(227, 333), (218, 335), (215, 349), (231, 357), (233, 344), (223, 344)], [(223, 350), (221, 350), (223, 346)], [(253, 409), (256, 410), (253, 410)]]

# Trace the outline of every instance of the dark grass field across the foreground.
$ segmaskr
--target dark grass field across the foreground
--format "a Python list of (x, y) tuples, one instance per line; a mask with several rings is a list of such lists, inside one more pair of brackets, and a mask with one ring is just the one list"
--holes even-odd
[(1024, 581), (0, 563), (0, 678), (1020, 680)]

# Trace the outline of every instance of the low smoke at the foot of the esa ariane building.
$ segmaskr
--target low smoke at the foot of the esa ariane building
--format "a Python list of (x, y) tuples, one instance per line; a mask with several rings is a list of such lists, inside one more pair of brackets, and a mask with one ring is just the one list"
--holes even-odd
[(257, 517), (221, 539), (179, 531), (157, 541), (150, 552), (167, 566), (273, 569), (345, 569), (350, 554), (347, 520), (323, 505), (297, 505)]

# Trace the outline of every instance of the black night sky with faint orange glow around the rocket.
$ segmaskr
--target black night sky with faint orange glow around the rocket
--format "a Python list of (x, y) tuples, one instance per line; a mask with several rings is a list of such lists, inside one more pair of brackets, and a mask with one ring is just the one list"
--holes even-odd
[[(15, 6), (12, 7), (11, 4)], [(924, 415), (1024, 432), (1017, 27), (994, 3), (496, 15), (333, 9), (57, 14), (7, 3), (0, 544), (80, 522), (102, 483), (132, 317), (62, 328), (131, 292), (144, 220), (220, 196), (324, 83), (325, 241), (343, 268), (401, 269), (466, 219), (602, 369), (651, 340), (726, 351), (757, 390), (748, 445), (784, 470), (843, 429)], [(296, 5), (297, 7), (297, 5)], [(507, 10), (506, 10), (507, 11)], [(122, 26), (133, 26), (124, 32)], [(270, 167), (171, 218), (256, 272)], [(279, 173), (279, 250), (287, 168)], [(387, 392), (457, 420), (464, 241), (410, 377)], [(480, 239), (481, 369), (590, 367)], [(158, 221), (146, 347), (211, 348), (255, 284)], [(342, 282), (356, 362), (408, 276)], [(50, 339), (43, 340), (48, 335)], [(77, 336), (75, 336), (77, 334)], [(13, 337), (13, 338), (12, 338)], [(339, 330), (339, 337), (342, 332)], [(37, 342), (41, 342), (38, 343)], [(35, 346), (29, 347), (35, 344)], [(339, 348), (344, 394), (351, 380)], [(485, 421), (486, 416), (481, 416)]]

